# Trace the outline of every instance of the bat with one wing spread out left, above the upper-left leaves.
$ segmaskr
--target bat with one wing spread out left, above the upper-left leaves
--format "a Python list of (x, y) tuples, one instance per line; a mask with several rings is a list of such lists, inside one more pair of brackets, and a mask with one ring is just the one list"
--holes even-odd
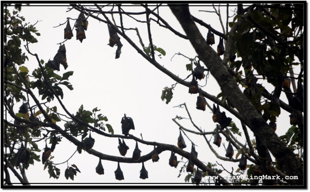
[(64, 44), (59, 46), (59, 49), (56, 55), (54, 56), (54, 59), (48, 60), (47, 67), (59, 71), (60, 64), (64, 66), (64, 69), (67, 69), (68, 64), (66, 58), (66, 47), (64, 46)]

